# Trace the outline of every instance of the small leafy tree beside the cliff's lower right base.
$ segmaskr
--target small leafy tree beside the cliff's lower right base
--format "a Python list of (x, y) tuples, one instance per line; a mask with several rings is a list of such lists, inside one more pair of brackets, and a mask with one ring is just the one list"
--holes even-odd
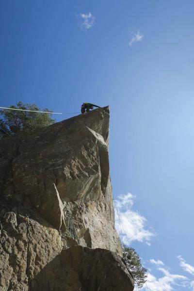
[(136, 253), (134, 248), (127, 247), (124, 244), (122, 245), (122, 249), (123, 259), (127, 264), (127, 268), (133, 275), (135, 286), (137, 288), (143, 287), (144, 283), (146, 283), (147, 270), (142, 266), (139, 255)]

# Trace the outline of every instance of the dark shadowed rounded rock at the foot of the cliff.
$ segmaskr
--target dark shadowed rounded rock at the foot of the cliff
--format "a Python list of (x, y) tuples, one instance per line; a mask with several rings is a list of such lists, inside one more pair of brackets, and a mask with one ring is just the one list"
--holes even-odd
[(121, 258), (105, 249), (63, 250), (30, 282), (28, 291), (133, 291)]

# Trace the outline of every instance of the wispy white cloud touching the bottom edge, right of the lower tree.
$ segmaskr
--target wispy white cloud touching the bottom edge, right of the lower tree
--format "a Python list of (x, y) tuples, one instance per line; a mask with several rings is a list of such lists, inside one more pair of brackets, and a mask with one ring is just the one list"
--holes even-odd
[(164, 268), (158, 268), (164, 276), (156, 278), (154, 275), (147, 274), (147, 282), (145, 286), (139, 290), (147, 291), (147, 287), (151, 291), (171, 291), (174, 290), (173, 286), (178, 285), (181, 287), (188, 286), (188, 278), (183, 275), (171, 274)]

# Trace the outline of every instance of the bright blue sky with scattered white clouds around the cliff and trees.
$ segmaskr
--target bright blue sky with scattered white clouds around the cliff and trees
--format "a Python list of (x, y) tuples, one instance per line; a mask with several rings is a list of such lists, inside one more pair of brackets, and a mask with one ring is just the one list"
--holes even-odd
[(113, 194), (148, 288), (194, 290), (194, 2), (1, 0), (0, 35), (0, 106), (111, 106)]

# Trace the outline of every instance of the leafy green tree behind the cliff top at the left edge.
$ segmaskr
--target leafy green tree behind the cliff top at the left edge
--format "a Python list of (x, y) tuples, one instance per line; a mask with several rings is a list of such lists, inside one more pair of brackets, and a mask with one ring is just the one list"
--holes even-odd
[[(39, 111), (36, 104), (23, 104), (21, 101), (10, 106), (10, 108)], [(47, 108), (43, 111), (50, 112)], [(0, 110), (0, 115), (2, 116), (0, 118), (0, 128), (9, 134), (43, 128), (55, 122), (48, 113), (3, 109)]]

